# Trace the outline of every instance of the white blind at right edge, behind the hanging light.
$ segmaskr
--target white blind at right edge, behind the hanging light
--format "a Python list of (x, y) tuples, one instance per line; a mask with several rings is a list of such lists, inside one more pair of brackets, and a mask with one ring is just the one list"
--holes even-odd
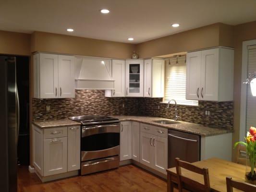
[[(248, 74), (256, 71), (256, 46), (248, 47)], [(247, 85), (246, 129), (256, 127), (256, 96), (252, 96), (250, 85)]]

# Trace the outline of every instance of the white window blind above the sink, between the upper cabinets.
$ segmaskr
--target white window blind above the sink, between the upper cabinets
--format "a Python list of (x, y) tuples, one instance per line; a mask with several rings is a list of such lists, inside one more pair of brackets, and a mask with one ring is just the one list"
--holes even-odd
[[(171, 63), (171, 65), (170, 65)], [(165, 102), (175, 99), (179, 105), (198, 106), (198, 101), (186, 100), (186, 63), (185, 57), (165, 61)]]

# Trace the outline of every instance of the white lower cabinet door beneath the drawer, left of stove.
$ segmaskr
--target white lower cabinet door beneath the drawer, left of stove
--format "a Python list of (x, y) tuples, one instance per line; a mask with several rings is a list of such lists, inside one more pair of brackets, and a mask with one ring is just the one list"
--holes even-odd
[(44, 176), (67, 172), (67, 137), (44, 140)]

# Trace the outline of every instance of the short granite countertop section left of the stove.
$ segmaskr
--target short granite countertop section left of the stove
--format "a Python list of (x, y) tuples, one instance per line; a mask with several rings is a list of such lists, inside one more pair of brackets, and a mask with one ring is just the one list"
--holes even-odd
[(33, 122), (34, 125), (40, 128), (52, 128), (52, 127), (62, 127), (62, 126), (74, 126), (81, 125), (81, 123), (69, 120), (69, 119), (60, 119), (60, 120), (37, 120)]

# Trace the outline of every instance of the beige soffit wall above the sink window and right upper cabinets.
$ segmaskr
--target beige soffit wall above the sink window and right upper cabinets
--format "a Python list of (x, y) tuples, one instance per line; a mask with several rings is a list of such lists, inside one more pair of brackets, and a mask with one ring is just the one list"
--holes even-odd
[(140, 58), (156, 57), (216, 46), (233, 47), (232, 26), (211, 24), (136, 45)]

